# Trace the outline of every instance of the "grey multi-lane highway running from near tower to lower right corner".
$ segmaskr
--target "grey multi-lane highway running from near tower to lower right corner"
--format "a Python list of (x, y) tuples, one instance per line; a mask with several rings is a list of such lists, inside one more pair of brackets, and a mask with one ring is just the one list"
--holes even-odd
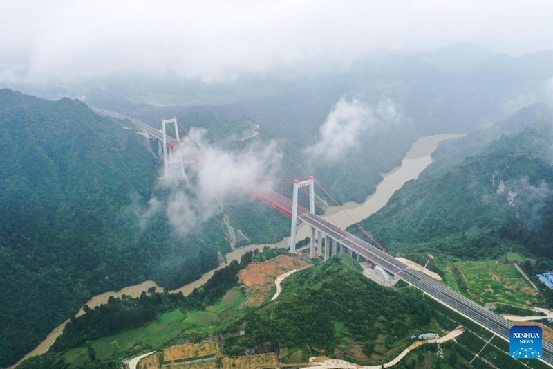
[[(310, 224), (310, 226), (318, 231), (328, 235), (328, 237), (339, 242), (339, 244), (343, 244), (348, 249), (353, 250), (366, 260), (373, 262), (373, 264), (379, 265), (394, 276), (400, 276), (400, 278), (422, 290), (425, 294), (428, 294), (440, 303), (456, 310), (456, 312), (482, 325), (482, 327), (509, 342), (509, 330), (514, 323), (507, 321), (502, 316), (490, 312), (469, 298), (462, 296), (457, 291), (453, 291), (442, 283), (411, 269), (391, 255), (344, 231), (338, 226), (330, 224), (330, 222), (327, 222), (318, 215), (303, 213), (299, 215), (298, 219)], [(543, 340), (542, 361), (553, 366), (553, 345), (545, 340)]]

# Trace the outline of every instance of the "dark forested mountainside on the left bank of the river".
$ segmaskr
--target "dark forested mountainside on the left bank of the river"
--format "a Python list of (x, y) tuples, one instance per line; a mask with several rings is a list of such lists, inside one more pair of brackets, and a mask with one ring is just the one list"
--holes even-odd
[(91, 296), (155, 279), (178, 287), (229, 246), (212, 221), (180, 237), (140, 217), (158, 174), (144, 138), (78, 100), (0, 90), (0, 366)]

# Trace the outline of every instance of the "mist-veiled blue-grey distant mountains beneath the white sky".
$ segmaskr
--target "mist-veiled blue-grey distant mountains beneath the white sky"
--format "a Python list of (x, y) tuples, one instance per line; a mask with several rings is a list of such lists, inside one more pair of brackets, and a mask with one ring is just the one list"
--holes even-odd
[[(154, 125), (167, 111), (188, 127), (198, 109), (223, 120), (246, 117), (260, 125), (263, 137), (281, 140), (285, 177), (314, 173), (340, 201), (362, 201), (379, 173), (399, 165), (418, 137), (469, 133), (523, 107), (550, 104), (552, 66), (553, 54), (545, 51), (510, 57), (462, 43), (427, 54), (381, 53), (332, 69), (282, 67), (211, 84), (118, 78), (104, 81), (102, 89), (82, 85), (72, 93)], [(334, 141), (323, 143), (329, 118), (344, 111), (343, 102), (356, 101), (373, 118), (355, 131), (355, 145), (342, 150), (348, 138), (337, 134), (327, 134)], [(335, 127), (346, 132), (346, 126)], [(308, 147), (337, 152), (340, 160), (312, 160)], [(350, 186), (339, 186), (338, 178)]]

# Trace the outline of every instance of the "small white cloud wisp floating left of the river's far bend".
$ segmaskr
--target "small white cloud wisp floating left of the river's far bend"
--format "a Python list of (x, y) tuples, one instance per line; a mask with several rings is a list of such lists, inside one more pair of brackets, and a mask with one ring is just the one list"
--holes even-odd
[(369, 107), (357, 99), (341, 98), (319, 128), (317, 143), (306, 148), (309, 159), (335, 161), (357, 147), (362, 134), (377, 123), (397, 123), (402, 113), (391, 100)]

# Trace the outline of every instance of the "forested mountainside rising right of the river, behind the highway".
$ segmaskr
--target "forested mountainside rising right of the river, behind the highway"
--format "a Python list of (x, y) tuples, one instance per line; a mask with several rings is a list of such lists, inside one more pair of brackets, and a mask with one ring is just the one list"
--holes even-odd
[(551, 127), (502, 136), (449, 170), (406, 183), (362, 225), (391, 252), (486, 259), (525, 248), (552, 258)]

